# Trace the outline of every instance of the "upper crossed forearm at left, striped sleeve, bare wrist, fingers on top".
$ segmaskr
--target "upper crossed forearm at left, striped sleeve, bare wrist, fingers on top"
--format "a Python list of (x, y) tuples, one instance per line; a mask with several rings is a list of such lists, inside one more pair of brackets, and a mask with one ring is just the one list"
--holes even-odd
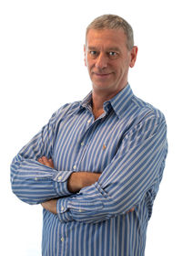
[(81, 188), (94, 184), (100, 174), (72, 173), (54, 169), (52, 159), (45, 156), (35, 161), (17, 157), (12, 168), (12, 189), (17, 197), (28, 204), (38, 204), (55, 197), (66, 197)]

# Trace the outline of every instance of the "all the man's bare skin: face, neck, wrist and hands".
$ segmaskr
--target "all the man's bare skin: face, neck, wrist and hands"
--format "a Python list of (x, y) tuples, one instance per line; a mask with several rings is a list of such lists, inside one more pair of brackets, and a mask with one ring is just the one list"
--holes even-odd
[[(137, 48), (126, 47), (126, 35), (123, 29), (90, 29), (86, 36), (85, 65), (92, 80), (93, 114), (97, 119), (103, 112), (105, 101), (112, 99), (127, 84), (129, 68), (136, 62)], [(38, 159), (42, 165), (54, 168), (52, 159), (45, 156)], [(70, 192), (94, 184), (100, 174), (89, 172), (73, 173), (67, 182)], [(42, 203), (43, 208), (56, 214), (57, 199)], [(131, 208), (127, 213), (134, 211)]]

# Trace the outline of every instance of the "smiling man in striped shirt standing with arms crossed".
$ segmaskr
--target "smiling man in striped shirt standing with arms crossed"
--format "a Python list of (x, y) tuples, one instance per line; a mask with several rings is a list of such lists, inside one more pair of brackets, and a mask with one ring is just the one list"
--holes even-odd
[(93, 90), (54, 113), (13, 160), (15, 195), (44, 208), (44, 256), (145, 253), (167, 128), (127, 82), (136, 54), (123, 18), (97, 17), (85, 46)]

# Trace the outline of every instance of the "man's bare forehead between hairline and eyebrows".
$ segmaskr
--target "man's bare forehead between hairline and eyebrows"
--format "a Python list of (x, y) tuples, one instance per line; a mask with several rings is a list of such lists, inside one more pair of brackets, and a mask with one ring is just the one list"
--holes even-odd
[(122, 48), (126, 47), (126, 34), (123, 29), (90, 29), (86, 35), (86, 46)]

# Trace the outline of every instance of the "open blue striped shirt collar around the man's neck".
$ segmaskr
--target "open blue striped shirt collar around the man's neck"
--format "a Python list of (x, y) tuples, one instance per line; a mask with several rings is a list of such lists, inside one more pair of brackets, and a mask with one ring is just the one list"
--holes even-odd
[[(133, 91), (131, 90), (130, 85), (127, 83), (126, 87), (122, 91), (119, 91), (115, 97), (113, 97), (109, 101), (104, 102), (104, 109), (108, 111), (110, 107), (112, 107), (114, 112), (116, 112), (117, 117), (120, 118), (122, 116), (122, 113), (126, 110), (128, 104), (130, 103), (133, 95)], [(86, 95), (83, 101), (80, 101), (80, 107), (92, 111), (91, 101), (92, 91), (90, 91)]]

